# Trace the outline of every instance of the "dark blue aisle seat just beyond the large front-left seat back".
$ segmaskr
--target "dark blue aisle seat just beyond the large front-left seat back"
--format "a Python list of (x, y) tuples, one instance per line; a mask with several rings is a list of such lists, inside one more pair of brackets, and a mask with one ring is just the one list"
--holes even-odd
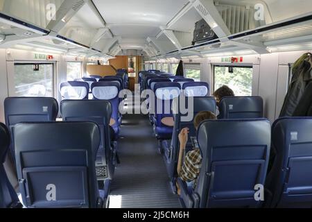
[(60, 103), (60, 112), (63, 121), (93, 121), (98, 124), (101, 133), (99, 150), (105, 150), (105, 152), (101, 153), (105, 153), (107, 180), (112, 180), (114, 176), (114, 153), (110, 141), (110, 118), (112, 117), (110, 102), (102, 100), (67, 100)]

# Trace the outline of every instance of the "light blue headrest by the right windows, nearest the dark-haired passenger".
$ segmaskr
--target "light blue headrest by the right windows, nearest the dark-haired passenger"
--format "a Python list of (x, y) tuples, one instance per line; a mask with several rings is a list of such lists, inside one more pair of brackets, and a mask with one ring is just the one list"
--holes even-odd
[(201, 82), (184, 83), (182, 89), (184, 90), (184, 95), (187, 97), (208, 96), (209, 94), (208, 83)]

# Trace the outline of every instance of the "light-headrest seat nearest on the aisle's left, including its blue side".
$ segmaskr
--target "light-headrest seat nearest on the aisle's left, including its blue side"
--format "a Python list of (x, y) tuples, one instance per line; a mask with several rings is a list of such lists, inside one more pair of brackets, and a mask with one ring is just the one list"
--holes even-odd
[[(114, 93), (112, 89), (116, 89), (117, 93)], [(103, 90), (103, 93), (101, 95), (97, 95), (95, 94), (96, 90)], [(115, 140), (119, 137), (119, 123), (121, 121), (121, 115), (119, 114), (119, 90), (119, 83), (101, 81), (92, 84), (92, 93), (94, 96), (94, 100), (107, 100), (110, 101), (110, 103), (112, 104), (112, 119), (114, 119), (115, 121), (112, 128), (115, 132)]]

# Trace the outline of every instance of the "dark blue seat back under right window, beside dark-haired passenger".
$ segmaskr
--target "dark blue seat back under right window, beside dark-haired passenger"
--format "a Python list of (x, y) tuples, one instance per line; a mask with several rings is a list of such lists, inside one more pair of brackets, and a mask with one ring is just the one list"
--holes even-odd
[(263, 99), (259, 96), (225, 96), (220, 101), (219, 119), (263, 118)]

